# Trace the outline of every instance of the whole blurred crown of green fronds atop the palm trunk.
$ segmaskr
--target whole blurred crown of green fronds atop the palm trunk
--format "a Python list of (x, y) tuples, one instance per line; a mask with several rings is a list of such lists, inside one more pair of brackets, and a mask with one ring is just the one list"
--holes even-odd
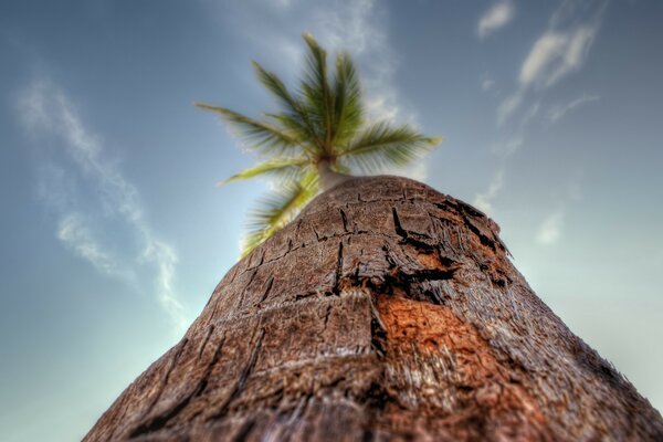
[(410, 125), (368, 122), (357, 71), (348, 53), (336, 55), (335, 71), (327, 52), (311, 34), (306, 71), (297, 93), (259, 63), (260, 82), (277, 99), (281, 112), (254, 119), (221, 106), (197, 103), (219, 114), (263, 159), (221, 183), (262, 175), (277, 179), (277, 190), (250, 213), (243, 255), (286, 225), (319, 190), (328, 190), (350, 172), (375, 173), (420, 158), (441, 138), (427, 137)]

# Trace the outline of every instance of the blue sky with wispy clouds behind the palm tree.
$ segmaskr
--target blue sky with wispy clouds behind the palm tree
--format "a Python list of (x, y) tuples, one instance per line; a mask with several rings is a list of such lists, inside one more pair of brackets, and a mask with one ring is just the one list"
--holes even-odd
[(273, 109), (309, 31), (376, 118), (445, 141), (401, 172), (474, 203), (537, 294), (663, 409), (663, 3), (0, 6), (0, 439), (80, 439), (239, 256), (265, 182), (196, 101)]

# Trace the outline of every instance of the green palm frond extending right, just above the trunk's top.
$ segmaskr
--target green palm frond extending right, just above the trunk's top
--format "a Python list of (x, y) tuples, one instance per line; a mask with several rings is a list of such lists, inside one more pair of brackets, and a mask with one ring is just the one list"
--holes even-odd
[(387, 166), (404, 166), (420, 159), (441, 141), (441, 138), (421, 135), (409, 125), (390, 127), (378, 123), (341, 147), (338, 159), (365, 172), (376, 172)]

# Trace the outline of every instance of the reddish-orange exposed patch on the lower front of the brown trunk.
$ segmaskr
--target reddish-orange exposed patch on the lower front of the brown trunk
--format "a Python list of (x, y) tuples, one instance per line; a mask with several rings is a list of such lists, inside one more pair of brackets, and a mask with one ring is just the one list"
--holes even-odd
[(476, 328), (451, 308), (398, 294), (378, 296), (377, 308), (387, 334), (387, 359), (394, 361), (388, 378), (409, 379), (392, 386), (392, 393), (404, 399), (401, 407), (442, 417), (445, 432), (459, 439), (485, 434), (486, 427), (509, 440), (551, 439), (538, 402), (519, 385), (513, 367), (497, 360)]

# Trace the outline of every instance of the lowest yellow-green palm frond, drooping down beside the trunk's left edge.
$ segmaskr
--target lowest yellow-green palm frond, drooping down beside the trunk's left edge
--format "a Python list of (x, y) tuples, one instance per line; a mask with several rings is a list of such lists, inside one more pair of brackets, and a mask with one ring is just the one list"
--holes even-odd
[(318, 191), (318, 177), (306, 173), (299, 181), (284, 182), (249, 213), (249, 233), (242, 241), (242, 256), (291, 222)]

